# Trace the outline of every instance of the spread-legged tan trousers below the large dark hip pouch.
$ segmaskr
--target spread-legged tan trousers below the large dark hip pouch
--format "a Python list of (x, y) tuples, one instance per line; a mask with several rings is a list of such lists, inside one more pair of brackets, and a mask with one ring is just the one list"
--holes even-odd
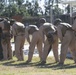
[(49, 43), (49, 41), (46, 39), (46, 41), (44, 43), (42, 61), (46, 61), (47, 55), (48, 55), (48, 50), (49, 50), (50, 46), (52, 46), (55, 61), (58, 62), (59, 58), (58, 58), (58, 36), (57, 35), (54, 36), (54, 43)]

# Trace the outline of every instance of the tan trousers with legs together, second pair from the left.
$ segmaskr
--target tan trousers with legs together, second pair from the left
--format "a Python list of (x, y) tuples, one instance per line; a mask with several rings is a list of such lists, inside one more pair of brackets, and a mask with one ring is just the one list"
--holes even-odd
[(25, 35), (19, 35), (15, 37), (15, 54), (18, 61), (24, 60), (23, 46), (25, 43)]

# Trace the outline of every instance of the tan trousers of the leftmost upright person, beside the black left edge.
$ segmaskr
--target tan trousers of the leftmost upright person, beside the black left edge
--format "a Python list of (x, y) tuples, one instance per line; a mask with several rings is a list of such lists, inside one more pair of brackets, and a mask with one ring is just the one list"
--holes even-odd
[(4, 60), (8, 60), (8, 59), (12, 59), (12, 49), (11, 49), (11, 43), (10, 43), (10, 39), (8, 38), (7, 42), (2, 39), (1, 41), (2, 43), (2, 48), (3, 48), (3, 59)]

